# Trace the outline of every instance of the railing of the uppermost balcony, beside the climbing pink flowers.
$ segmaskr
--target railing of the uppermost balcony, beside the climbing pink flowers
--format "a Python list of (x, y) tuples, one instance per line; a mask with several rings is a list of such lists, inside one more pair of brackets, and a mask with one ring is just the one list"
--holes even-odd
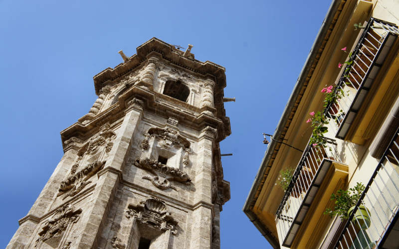
[(324, 110), (336, 132), (336, 137), (344, 139), (357, 112), (364, 102), (388, 52), (399, 35), (398, 27), (389, 22), (371, 18), (343, 70), (336, 92), (342, 98), (330, 103)]

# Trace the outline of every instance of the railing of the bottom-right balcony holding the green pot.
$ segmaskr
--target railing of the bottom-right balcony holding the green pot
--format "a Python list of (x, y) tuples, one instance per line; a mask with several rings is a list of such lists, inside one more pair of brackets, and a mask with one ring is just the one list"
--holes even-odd
[(349, 217), (335, 248), (398, 247), (398, 235), (389, 235), (392, 228), (398, 226), (399, 216), (398, 132), (399, 129)]

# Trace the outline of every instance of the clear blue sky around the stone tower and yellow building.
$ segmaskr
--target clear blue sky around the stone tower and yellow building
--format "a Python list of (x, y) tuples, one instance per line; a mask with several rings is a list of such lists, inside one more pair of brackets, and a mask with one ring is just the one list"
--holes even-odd
[(0, 248), (59, 162), (59, 132), (96, 100), (92, 77), (154, 36), (226, 68), (221, 248), (270, 248), (241, 209), (330, 3), (0, 0)]

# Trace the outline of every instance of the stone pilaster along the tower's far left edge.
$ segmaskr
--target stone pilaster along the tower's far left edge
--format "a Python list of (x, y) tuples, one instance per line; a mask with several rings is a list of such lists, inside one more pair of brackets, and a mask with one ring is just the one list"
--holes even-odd
[(28, 214), (18, 221), (19, 228), (10, 240), (7, 248), (24, 248), (28, 245), (31, 238), (34, 237), (33, 233), (36, 231), (41, 217), (49, 211), (58, 193), (60, 182), (64, 180), (77, 157), (78, 146), (76, 146), (76, 142), (77, 140), (73, 138), (65, 141), (65, 153), (61, 161), (58, 163)]

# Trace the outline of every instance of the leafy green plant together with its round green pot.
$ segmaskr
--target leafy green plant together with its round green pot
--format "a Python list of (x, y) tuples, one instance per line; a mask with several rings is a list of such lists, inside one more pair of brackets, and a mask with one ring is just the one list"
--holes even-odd
[[(331, 194), (331, 200), (335, 200), (334, 210), (327, 208), (324, 214), (330, 215), (331, 217), (338, 215), (342, 219), (349, 219), (364, 190), (365, 186), (358, 182), (355, 187), (349, 190), (340, 189), (337, 194)], [(360, 205), (352, 222), (356, 225), (360, 224), (362, 229), (367, 229), (370, 226), (369, 213), (369, 209)]]

